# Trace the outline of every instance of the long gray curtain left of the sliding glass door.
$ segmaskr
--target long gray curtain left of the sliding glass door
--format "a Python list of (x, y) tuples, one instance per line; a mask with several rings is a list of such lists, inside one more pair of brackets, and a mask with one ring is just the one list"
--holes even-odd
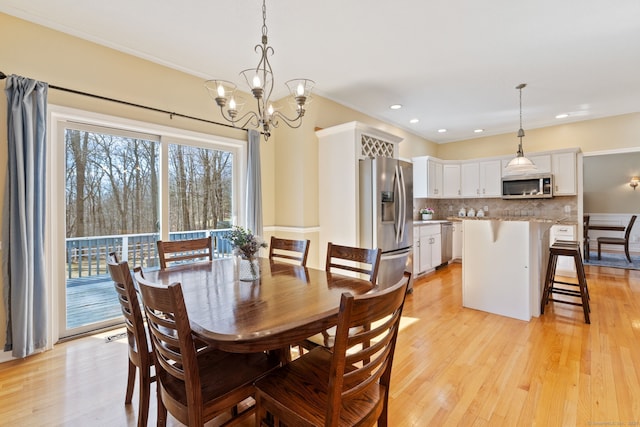
[(47, 347), (45, 138), (48, 85), (9, 76), (8, 167), (2, 215), (5, 351), (25, 357)]

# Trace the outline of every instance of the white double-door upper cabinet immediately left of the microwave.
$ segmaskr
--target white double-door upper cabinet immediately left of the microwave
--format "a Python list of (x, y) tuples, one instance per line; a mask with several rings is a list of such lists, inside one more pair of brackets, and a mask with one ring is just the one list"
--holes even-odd
[(466, 162), (461, 167), (463, 197), (500, 197), (500, 160)]

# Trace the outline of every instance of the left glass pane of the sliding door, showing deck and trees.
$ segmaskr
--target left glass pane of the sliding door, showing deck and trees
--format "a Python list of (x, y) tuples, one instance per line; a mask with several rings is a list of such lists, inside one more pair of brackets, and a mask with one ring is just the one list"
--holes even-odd
[(105, 131), (64, 134), (66, 330), (121, 319), (109, 252), (156, 264), (158, 142)]

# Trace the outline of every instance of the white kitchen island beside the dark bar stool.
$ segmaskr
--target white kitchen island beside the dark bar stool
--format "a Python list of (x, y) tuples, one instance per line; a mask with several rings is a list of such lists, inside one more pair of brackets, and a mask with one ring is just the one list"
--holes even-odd
[(462, 305), (529, 321), (540, 315), (549, 230), (540, 218), (464, 219)]

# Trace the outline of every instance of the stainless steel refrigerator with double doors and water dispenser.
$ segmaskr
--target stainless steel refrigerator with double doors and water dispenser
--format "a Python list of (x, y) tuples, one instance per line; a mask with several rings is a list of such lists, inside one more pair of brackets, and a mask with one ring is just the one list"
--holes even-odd
[(382, 250), (378, 284), (389, 286), (412, 268), (413, 165), (375, 157), (359, 166), (360, 246)]

